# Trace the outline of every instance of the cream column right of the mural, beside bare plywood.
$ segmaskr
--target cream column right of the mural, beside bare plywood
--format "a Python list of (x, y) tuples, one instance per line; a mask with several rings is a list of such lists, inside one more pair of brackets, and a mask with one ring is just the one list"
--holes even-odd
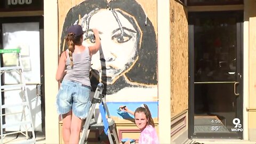
[(170, 0), (157, 0), (159, 143), (171, 143)]

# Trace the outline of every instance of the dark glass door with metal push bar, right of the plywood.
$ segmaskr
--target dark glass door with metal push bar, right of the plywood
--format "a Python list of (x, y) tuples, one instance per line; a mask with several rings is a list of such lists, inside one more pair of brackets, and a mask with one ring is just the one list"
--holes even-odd
[(243, 11), (188, 21), (189, 138), (243, 139)]

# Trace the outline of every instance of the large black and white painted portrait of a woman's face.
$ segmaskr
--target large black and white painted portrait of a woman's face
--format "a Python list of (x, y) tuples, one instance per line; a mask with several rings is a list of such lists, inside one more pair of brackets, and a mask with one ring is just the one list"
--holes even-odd
[(84, 1), (69, 10), (63, 29), (78, 22), (85, 33), (83, 45), (94, 44), (93, 28), (99, 30), (101, 39), (101, 49), (91, 61), (92, 86), (104, 83), (111, 101), (117, 97), (134, 100), (131, 95), (145, 95), (149, 101), (157, 97), (156, 34), (136, 1)]

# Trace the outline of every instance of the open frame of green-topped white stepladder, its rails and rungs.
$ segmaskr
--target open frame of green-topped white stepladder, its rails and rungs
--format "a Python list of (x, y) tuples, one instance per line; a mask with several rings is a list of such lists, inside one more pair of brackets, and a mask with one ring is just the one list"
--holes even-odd
[[(27, 93), (27, 87), (25, 84), (25, 77), (23, 75), (23, 66), (22, 66), (22, 62), (21, 62), (21, 54), (20, 54), (20, 49), (0, 49), (0, 55), (3, 56), (3, 54), (5, 53), (16, 53), (17, 54), (17, 65), (15, 66), (10, 66), (10, 67), (0, 67), (0, 71), (1, 71), (1, 76), (0, 76), (0, 82), (2, 82), (2, 74), (6, 73), (6, 72), (12, 72), (12, 71), (16, 71), (19, 74), (19, 84), (10, 84), (10, 85), (0, 85), (1, 86), (1, 92), (0, 92), (0, 129), (1, 129), (1, 143), (4, 142), (4, 138), (6, 137), (6, 135), (10, 135), (10, 134), (15, 134), (15, 133), (20, 133), (22, 135), (24, 135), (26, 137), (26, 140), (23, 141), (25, 143), (35, 143), (35, 131), (34, 131), (34, 124), (33, 124), (33, 119), (31, 116), (31, 108), (29, 105), (29, 99), (28, 99), (28, 93)], [(0, 58), (0, 63), (3, 64), (1, 62)], [(15, 87), (13, 89), (13, 87)], [(22, 94), (22, 102), (21, 102), (21, 106), (22, 106), (22, 111), (21, 112), (16, 112), (16, 113), (5, 113), (3, 114), (3, 109), (6, 108), (10, 108), (10, 107), (15, 107), (15, 105), (10, 104), (10, 105), (3, 105), (2, 103), (2, 92), (6, 92), (6, 91), (12, 91), (12, 90), (18, 90), (17, 87), (20, 87), (19, 89), (21, 90), (21, 94)], [(18, 103), (19, 105), (19, 103)], [(26, 113), (27, 110), (27, 113)], [(15, 124), (3, 124), (3, 116), (6, 115), (12, 115), (12, 114), (19, 114), (22, 113), (21, 115), (21, 119), (19, 121), (19, 123), (15, 122)], [(28, 117), (27, 117), (28, 116)], [(27, 118), (29, 119), (27, 121)], [(17, 119), (16, 119), (17, 120)], [(6, 129), (7, 127), (11, 127), (11, 126), (19, 126), (19, 130), (17, 131), (13, 131), (13, 132), (6, 132), (4, 133), (4, 129)], [(31, 130), (32, 133), (32, 137), (31, 139), (29, 138), (28, 135), (28, 131)]]

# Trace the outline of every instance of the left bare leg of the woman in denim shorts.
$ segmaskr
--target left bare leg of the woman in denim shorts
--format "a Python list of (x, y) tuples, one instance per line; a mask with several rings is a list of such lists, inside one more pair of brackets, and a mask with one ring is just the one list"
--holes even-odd
[(71, 125), (72, 111), (62, 115), (62, 138), (65, 144), (69, 144), (70, 125)]

